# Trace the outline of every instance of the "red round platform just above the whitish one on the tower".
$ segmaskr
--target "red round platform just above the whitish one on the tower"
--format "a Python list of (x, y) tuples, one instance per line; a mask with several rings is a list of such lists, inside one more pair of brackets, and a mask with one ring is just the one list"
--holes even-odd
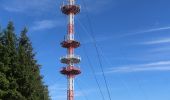
[(67, 41), (61, 42), (61, 46), (64, 48), (69, 48), (69, 47), (77, 48), (80, 46), (80, 42), (75, 41), (75, 40), (67, 40)]

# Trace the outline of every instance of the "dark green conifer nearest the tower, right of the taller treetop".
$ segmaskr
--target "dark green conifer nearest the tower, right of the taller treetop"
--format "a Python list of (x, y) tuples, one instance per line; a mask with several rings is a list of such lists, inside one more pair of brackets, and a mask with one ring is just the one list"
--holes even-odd
[(33, 53), (31, 42), (26, 33), (27, 29), (24, 28), (19, 39), (19, 62), (20, 65), (22, 65), (23, 74), (25, 74), (23, 77), (25, 85), (22, 81), (19, 84), (21, 86), (23, 85), (21, 88), (22, 93), (25, 91), (24, 88), (26, 89), (23, 95), (27, 96), (30, 100), (33, 98), (36, 98), (36, 100), (48, 100), (48, 91), (43, 85), (42, 77), (40, 76), (40, 65), (37, 64), (34, 58), (35, 54)]

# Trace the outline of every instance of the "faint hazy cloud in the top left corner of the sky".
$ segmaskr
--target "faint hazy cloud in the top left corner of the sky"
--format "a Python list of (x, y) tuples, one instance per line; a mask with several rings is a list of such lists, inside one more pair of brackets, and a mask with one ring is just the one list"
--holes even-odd
[(1, 6), (9, 12), (40, 13), (52, 9), (55, 0), (2, 0)]

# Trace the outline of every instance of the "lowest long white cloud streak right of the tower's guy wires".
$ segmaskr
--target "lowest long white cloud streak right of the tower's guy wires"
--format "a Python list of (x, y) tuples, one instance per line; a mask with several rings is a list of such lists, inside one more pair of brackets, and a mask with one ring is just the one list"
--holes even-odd
[(146, 72), (146, 71), (170, 71), (170, 61), (159, 61), (153, 63), (127, 65), (122, 67), (114, 67), (105, 73), (130, 73), (130, 72)]

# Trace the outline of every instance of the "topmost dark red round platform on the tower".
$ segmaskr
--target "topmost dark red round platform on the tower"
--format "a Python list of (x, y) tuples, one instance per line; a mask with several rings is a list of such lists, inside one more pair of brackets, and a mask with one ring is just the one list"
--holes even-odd
[(76, 15), (80, 12), (80, 6), (79, 5), (63, 5), (61, 6), (61, 11), (66, 15), (69, 15), (70, 13), (73, 13)]

